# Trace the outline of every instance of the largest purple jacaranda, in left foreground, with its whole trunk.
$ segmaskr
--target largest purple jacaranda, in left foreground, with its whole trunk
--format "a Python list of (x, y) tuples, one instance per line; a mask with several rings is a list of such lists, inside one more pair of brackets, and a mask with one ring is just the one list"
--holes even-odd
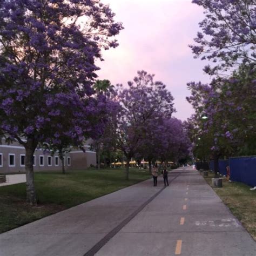
[(91, 129), (95, 59), (101, 48), (117, 46), (111, 38), (122, 29), (113, 18), (98, 0), (0, 2), (0, 127), (25, 147), (30, 204), (36, 147), (62, 136), (79, 143)]

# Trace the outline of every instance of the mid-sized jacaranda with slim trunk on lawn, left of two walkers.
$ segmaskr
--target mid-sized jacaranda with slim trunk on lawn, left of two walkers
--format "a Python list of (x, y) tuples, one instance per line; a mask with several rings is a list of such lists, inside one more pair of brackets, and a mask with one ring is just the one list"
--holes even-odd
[(126, 157), (126, 179), (129, 179), (129, 162), (138, 152), (150, 124), (159, 118), (171, 118), (174, 111), (171, 92), (153, 78), (146, 71), (138, 71), (128, 88), (117, 87), (121, 105), (116, 125), (117, 147)]

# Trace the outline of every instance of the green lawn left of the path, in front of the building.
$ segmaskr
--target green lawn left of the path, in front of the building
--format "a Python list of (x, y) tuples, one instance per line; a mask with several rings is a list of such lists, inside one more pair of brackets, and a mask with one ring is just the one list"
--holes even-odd
[(25, 183), (0, 187), (0, 233), (150, 178), (148, 170), (102, 169), (35, 173), (38, 206), (26, 205)]

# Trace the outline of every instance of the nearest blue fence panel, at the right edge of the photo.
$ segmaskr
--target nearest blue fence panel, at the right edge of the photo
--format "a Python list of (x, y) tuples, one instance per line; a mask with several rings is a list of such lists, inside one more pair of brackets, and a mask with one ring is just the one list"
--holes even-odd
[(230, 179), (256, 186), (256, 157), (230, 158)]

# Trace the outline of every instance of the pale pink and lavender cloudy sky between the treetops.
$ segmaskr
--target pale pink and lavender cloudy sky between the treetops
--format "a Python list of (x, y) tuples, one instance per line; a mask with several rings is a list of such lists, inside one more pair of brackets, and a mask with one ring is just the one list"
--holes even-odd
[(191, 0), (102, 0), (122, 22), (124, 30), (117, 36), (119, 46), (103, 51), (104, 62), (98, 62), (99, 79), (113, 85), (127, 85), (138, 70), (155, 74), (174, 97), (173, 114), (186, 120), (193, 109), (186, 102), (190, 95), (186, 84), (209, 82), (204, 74), (206, 62), (194, 59), (188, 44), (193, 43), (204, 18), (203, 9)]

